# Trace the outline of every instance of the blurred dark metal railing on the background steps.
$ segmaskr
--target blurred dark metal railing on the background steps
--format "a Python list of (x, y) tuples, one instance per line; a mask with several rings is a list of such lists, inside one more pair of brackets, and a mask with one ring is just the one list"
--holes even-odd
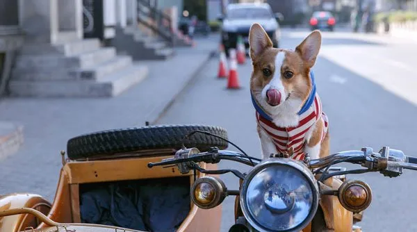
[(158, 36), (163, 38), (170, 46), (174, 45), (174, 33), (172, 20), (161, 10), (151, 6), (147, 0), (138, 1), (138, 22), (151, 29)]

